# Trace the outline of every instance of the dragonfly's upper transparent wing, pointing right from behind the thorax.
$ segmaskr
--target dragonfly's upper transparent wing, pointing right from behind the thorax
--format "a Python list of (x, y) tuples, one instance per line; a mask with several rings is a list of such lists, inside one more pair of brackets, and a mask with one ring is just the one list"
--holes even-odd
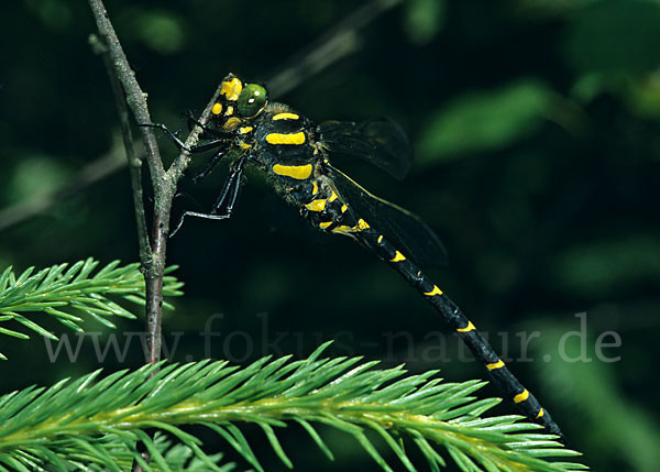
[(413, 150), (398, 124), (386, 118), (354, 123), (324, 121), (316, 129), (329, 157), (358, 157), (402, 179), (410, 168)]

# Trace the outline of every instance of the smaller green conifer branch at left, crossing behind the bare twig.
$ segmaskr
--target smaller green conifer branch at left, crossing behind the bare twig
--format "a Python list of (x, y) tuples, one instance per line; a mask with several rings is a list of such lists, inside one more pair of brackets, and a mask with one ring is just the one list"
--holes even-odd
[[(96, 319), (102, 325), (114, 328), (108, 318), (120, 316), (135, 318), (135, 315), (111, 297), (144, 306), (144, 277), (140, 264), (120, 266), (119, 261), (111, 262), (100, 271), (95, 270), (98, 261), (87, 259), (68, 264), (53, 265), (34, 272), (34, 267), (16, 275), (11, 267), (0, 274), (0, 322), (16, 321), (30, 331), (52, 340), (57, 337), (41, 326), (43, 314), (56, 319), (67, 328), (82, 332), (82, 316)], [(68, 267), (68, 268), (67, 268)], [(167, 272), (172, 272), (172, 266)], [(94, 273), (94, 274), (92, 274)], [(182, 295), (184, 285), (173, 276), (166, 276), (164, 295)], [(172, 305), (165, 304), (168, 308)], [(29, 339), (23, 330), (0, 326), (0, 334), (19, 339)], [(7, 359), (0, 353), (0, 359)]]

